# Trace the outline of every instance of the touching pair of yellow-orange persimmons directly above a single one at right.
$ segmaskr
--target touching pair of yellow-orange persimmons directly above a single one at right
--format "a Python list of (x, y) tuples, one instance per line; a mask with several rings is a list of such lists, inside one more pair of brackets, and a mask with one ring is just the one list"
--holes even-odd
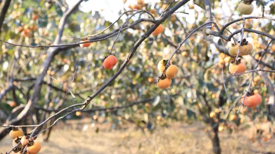
[[(237, 45), (232, 44), (232, 47), (229, 49), (229, 54), (231, 56), (237, 56), (238, 51), (239, 51), (239, 44), (240, 41)], [(249, 55), (251, 54), (253, 51), (253, 45), (251, 43), (249, 43), (246, 39), (244, 39), (241, 42), (241, 47), (240, 47), (240, 56), (245, 56), (245, 55)]]

